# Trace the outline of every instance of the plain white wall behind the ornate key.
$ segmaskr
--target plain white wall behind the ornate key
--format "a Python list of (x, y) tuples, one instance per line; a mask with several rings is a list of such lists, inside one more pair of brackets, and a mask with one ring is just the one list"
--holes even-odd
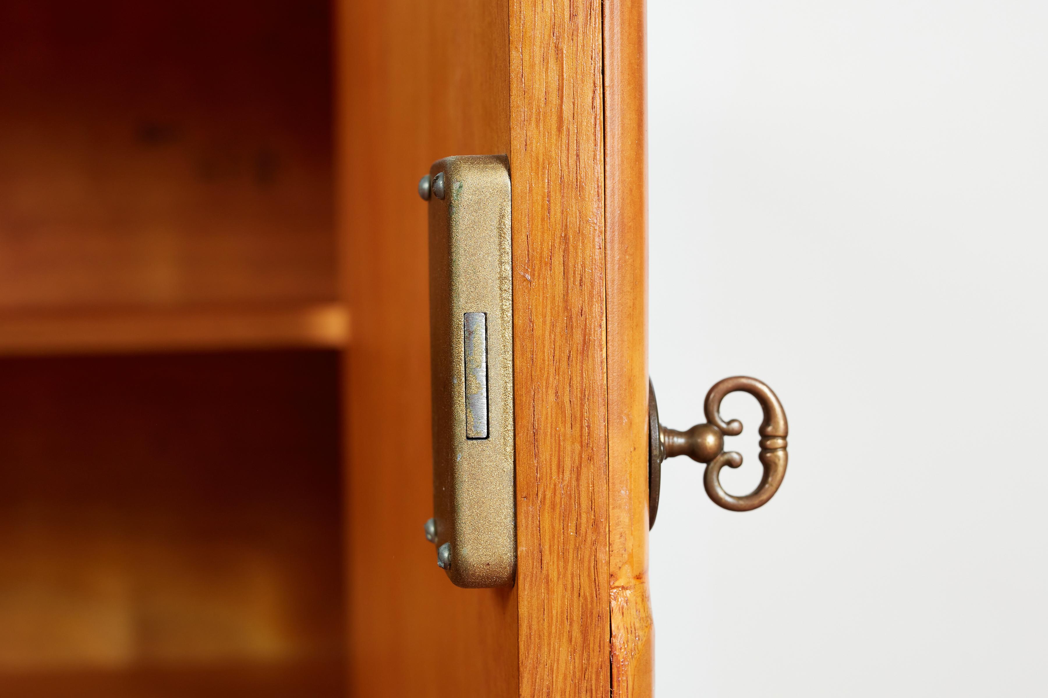
[[(649, 0), (657, 695), (1048, 695), (1048, 2)], [(759, 408), (725, 402), (759, 477)]]

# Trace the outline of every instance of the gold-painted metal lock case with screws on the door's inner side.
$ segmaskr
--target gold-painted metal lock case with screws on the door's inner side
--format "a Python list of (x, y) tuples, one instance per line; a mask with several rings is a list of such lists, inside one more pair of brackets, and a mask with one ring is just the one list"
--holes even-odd
[(461, 587), (514, 583), (512, 275), (505, 156), (438, 160), (430, 208), (433, 510), (427, 538)]

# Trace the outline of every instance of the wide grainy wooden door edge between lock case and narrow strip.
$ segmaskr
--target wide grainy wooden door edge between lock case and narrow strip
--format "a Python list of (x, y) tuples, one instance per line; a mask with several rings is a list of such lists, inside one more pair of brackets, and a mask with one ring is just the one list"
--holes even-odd
[(601, 13), (511, 3), (522, 696), (610, 692)]

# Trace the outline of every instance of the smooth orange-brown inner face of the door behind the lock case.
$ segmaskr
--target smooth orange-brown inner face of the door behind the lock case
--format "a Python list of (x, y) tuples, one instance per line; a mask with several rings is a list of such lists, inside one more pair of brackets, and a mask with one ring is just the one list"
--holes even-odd
[(352, 695), (518, 695), (517, 591), (436, 565), (427, 205), (430, 163), (509, 150), (507, 5), (339, 3), (346, 559)]

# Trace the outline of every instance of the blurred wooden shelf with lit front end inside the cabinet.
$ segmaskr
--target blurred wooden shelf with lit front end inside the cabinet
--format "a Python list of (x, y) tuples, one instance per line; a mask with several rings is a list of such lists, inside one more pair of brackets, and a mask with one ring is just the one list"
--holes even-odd
[(0, 313), (0, 356), (340, 348), (339, 302)]

